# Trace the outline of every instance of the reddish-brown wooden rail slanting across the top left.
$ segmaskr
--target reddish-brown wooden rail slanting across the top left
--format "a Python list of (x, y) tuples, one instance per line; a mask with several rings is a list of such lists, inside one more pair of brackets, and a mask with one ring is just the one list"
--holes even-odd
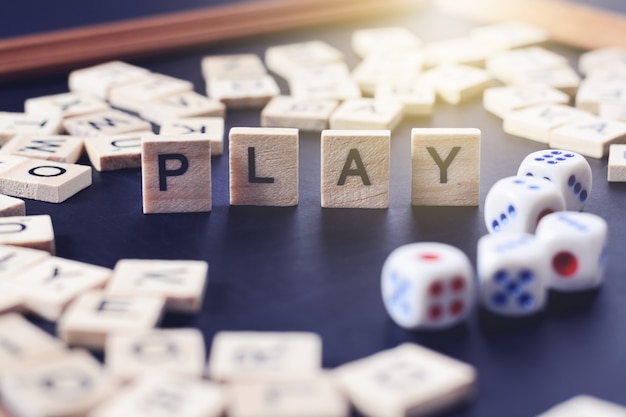
[(0, 42), (0, 81), (262, 33), (399, 13), (420, 0), (272, 0), (59, 30)]

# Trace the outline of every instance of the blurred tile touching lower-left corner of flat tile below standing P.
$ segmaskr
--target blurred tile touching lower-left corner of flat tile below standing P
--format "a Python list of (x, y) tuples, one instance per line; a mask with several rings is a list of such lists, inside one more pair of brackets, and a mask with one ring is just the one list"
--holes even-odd
[(71, 345), (104, 349), (111, 334), (152, 329), (161, 319), (165, 299), (89, 291), (78, 296), (57, 322), (57, 334)]

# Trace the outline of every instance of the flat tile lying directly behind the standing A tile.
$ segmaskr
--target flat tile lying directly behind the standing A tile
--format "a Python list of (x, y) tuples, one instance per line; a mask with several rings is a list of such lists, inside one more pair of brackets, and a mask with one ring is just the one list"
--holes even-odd
[(393, 130), (402, 121), (403, 106), (372, 98), (346, 100), (330, 116), (331, 129)]

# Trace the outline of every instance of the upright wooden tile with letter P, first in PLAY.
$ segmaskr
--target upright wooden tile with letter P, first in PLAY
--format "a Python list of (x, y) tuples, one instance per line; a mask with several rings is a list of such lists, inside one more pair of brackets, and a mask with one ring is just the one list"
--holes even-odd
[(144, 214), (211, 211), (208, 134), (144, 136), (141, 153)]

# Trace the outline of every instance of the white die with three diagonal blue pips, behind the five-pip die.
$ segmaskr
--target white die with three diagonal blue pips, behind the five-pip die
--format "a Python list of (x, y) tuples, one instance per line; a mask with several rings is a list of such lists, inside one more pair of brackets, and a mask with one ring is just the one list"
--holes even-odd
[(506, 177), (496, 182), (485, 199), (489, 233), (534, 233), (543, 216), (565, 209), (556, 185), (538, 177)]

